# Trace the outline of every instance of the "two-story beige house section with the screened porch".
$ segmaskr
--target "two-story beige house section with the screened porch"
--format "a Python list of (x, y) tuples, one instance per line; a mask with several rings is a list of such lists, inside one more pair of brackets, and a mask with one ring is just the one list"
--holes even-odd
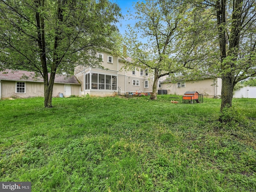
[(135, 67), (125, 69), (130, 58), (114, 56), (111, 52), (99, 52), (102, 60), (101, 68), (77, 66), (74, 75), (81, 82), (80, 95), (90, 96), (115, 96), (129, 93), (151, 93), (154, 76), (147, 68)]

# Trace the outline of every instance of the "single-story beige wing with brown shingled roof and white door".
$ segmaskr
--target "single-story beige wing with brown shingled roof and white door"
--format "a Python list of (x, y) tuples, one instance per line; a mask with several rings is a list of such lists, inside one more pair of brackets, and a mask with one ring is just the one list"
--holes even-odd
[[(27, 98), (44, 96), (44, 81), (34, 78), (34, 72), (5, 70), (0, 72), (0, 98)], [(60, 93), (64, 97), (80, 95), (81, 83), (76, 76), (57, 76), (53, 86), (53, 97)]]

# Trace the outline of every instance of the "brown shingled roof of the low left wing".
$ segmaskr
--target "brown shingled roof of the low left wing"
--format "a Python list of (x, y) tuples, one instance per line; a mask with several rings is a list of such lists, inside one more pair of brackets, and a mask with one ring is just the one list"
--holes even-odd
[[(0, 80), (9, 80), (9, 81), (30, 81), (30, 82), (44, 82), (42, 77), (34, 77), (35, 72), (23, 71), (23, 70), (10, 70), (0, 72)], [(50, 77), (50, 74), (48, 74)], [(76, 76), (64, 76), (56, 75), (55, 83), (66, 83), (66, 84), (81, 84)]]

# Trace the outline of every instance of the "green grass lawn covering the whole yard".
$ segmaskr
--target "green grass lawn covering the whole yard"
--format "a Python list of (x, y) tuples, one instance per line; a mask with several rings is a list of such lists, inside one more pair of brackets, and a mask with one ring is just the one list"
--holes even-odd
[[(256, 99), (0, 100), (0, 181), (32, 192), (254, 192)], [(176, 99), (177, 100), (177, 99)]]

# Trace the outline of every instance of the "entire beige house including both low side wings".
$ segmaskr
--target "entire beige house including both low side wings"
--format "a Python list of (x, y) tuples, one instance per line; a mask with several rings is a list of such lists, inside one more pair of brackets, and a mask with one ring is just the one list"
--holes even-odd
[[(63, 93), (85, 96), (115, 96), (129, 93), (152, 93), (154, 76), (148, 68), (125, 67), (130, 58), (114, 56), (110, 51), (98, 52), (103, 68), (85, 67), (82, 65), (74, 69), (74, 76), (56, 76), (53, 97)], [(33, 97), (44, 96), (42, 78), (33, 79), (33, 72), (6, 70), (0, 72), (0, 96)], [(25, 78), (27, 76), (28, 78)], [(210, 98), (219, 98), (221, 94), (221, 79), (205, 77), (203, 80), (180, 80), (173, 83), (168, 76), (158, 81), (158, 94), (183, 95), (187, 91), (197, 91)]]

